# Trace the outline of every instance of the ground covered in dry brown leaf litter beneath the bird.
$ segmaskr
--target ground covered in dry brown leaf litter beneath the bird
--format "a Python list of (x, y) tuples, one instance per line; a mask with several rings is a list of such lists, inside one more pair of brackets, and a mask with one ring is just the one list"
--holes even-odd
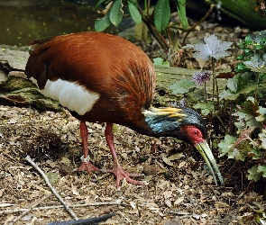
[[(209, 22), (197, 30), (188, 36), (189, 42), (215, 33), (219, 39), (235, 43), (251, 32)], [(142, 48), (150, 51), (153, 47)], [(159, 55), (156, 50), (150, 52), (152, 57)], [(237, 52), (234, 46), (230, 52), (233, 56), (221, 60), (218, 69), (228, 68), (228, 62), (235, 63)], [(193, 60), (187, 60), (189, 65), (197, 67)], [(78, 125), (68, 111), (40, 112), (33, 107), (0, 105), (1, 224), (74, 220), (41, 174), (24, 159), (26, 155), (49, 176), (78, 219), (115, 212), (102, 224), (257, 224), (255, 211), (264, 210), (264, 197), (241, 175), (240, 164), (218, 157), (214, 151), (225, 177), (225, 186), (218, 186), (207, 173), (202, 157), (187, 144), (145, 137), (115, 125), (115, 147), (121, 165), (144, 174), (139, 179), (148, 182), (133, 185), (124, 181), (117, 189), (114, 175), (74, 171), (82, 155)], [(112, 168), (105, 124), (87, 125), (91, 161), (99, 168)], [(25, 210), (29, 211), (23, 214)]]

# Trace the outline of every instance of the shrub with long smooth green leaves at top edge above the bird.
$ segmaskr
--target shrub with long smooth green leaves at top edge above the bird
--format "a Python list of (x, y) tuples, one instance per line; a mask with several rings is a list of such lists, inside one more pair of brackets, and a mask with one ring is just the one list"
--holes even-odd
[[(150, 1), (148, 0), (144, 1), (143, 10), (137, 0), (99, 0), (96, 6), (99, 4), (106, 4), (106, 7), (103, 11), (105, 16), (102, 19), (96, 20), (96, 31), (105, 31), (111, 24), (118, 26), (123, 16), (127, 15), (124, 12), (127, 12), (135, 23), (140, 24), (143, 22), (147, 25), (149, 31), (158, 40), (162, 49), (169, 49), (169, 44), (161, 33), (165, 32), (170, 23), (170, 0), (159, 0), (154, 10), (151, 10)], [(176, 0), (176, 4), (182, 24), (182, 28), (179, 27), (179, 29), (187, 30), (186, 0)]]

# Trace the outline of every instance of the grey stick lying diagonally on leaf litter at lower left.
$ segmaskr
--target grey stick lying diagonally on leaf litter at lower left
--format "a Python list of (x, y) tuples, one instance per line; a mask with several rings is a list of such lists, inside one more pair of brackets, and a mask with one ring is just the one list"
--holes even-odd
[(73, 217), (74, 220), (78, 220), (77, 215), (75, 214), (74, 211), (72, 211), (67, 203), (61, 198), (60, 194), (57, 193), (57, 191), (53, 188), (53, 186), (50, 184), (50, 181), (48, 177), (43, 173), (41, 168), (37, 166), (33, 161), (30, 156), (25, 157), (25, 159), (42, 175), (44, 178), (46, 184), (50, 187), (51, 192), (58, 198), (58, 200), (62, 203), (62, 205), (66, 208), (66, 210), (69, 212), (69, 214)]

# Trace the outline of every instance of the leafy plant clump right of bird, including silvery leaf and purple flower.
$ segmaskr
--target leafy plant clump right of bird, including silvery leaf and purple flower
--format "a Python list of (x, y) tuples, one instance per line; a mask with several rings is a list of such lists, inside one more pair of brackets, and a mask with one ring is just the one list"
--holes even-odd
[[(223, 73), (219, 74), (216, 71), (215, 59), (226, 57), (225, 50), (229, 49), (232, 43), (217, 40), (215, 35), (204, 40), (205, 42), (187, 45), (185, 48), (196, 50), (194, 57), (201, 68), (205, 66), (207, 60), (211, 60), (214, 83), (212, 92), (208, 93), (210, 95), (208, 99), (212, 98), (216, 101), (206, 101), (206, 81), (208, 80), (206, 71), (197, 72), (193, 76), (192, 80), (196, 84), (189, 80), (182, 80), (170, 85), (170, 89), (173, 94), (193, 96), (194, 108), (200, 109), (204, 115), (212, 114), (220, 121), (225, 131), (225, 139), (217, 145), (221, 157), (227, 156), (244, 161), (246, 177), (249, 180), (258, 181), (266, 177), (266, 108), (260, 105), (260, 103), (265, 103), (266, 97), (264, 91), (266, 87), (266, 31), (248, 35), (238, 43), (240, 49), (243, 49), (243, 53), (237, 58), (240, 63), (233, 71), (224, 73), (231, 77), (227, 78), (225, 89), (220, 93), (218, 93), (216, 80), (217, 76)], [(205, 85), (205, 102), (204, 94), (200, 97), (195, 94), (199, 93), (197, 89), (202, 84)], [(218, 99), (221, 101), (219, 102)], [(228, 106), (229, 111), (226, 110)], [(219, 114), (222, 114), (228, 122), (223, 122)], [(223, 135), (223, 132), (219, 135)]]

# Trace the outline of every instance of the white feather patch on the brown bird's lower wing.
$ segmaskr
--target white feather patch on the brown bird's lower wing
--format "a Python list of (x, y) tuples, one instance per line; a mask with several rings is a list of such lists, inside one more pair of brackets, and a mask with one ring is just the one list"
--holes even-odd
[[(37, 85), (34, 78), (31, 78), (31, 80)], [(40, 90), (40, 93), (58, 100), (62, 106), (67, 107), (70, 111), (78, 112), (79, 115), (89, 112), (100, 97), (99, 94), (89, 92), (80, 85), (61, 79), (56, 81), (47, 80), (44, 89)]]

